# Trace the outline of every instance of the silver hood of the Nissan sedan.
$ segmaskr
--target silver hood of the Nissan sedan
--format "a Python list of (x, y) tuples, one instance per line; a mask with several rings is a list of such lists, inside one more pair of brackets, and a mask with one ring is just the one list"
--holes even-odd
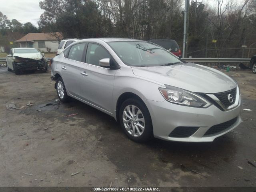
[(171, 66), (134, 67), (134, 75), (198, 93), (218, 93), (231, 90), (236, 82), (210, 67), (186, 63)]

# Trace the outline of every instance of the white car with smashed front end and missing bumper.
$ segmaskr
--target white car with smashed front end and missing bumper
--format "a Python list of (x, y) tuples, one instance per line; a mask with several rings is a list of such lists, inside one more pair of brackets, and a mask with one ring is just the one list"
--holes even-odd
[(35, 48), (12, 48), (6, 56), (6, 67), (8, 71), (14, 71), (16, 75), (25, 70), (47, 71), (48, 63), (41, 53)]

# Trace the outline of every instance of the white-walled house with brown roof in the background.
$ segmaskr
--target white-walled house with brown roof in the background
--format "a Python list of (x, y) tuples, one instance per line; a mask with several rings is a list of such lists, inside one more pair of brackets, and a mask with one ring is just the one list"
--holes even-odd
[(20, 47), (36, 48), (42, 52), (57, 52), (61, 39), (60, 32), (28, 33), (15, 42), (18, 42)]

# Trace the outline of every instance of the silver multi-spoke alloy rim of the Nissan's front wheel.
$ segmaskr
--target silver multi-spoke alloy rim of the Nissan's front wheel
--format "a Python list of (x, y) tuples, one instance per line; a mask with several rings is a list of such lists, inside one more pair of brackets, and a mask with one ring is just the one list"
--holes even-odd
[(145, 129), (145, 119), (141, 110), (134, 105), (128, 105), (123, 111), (123, 123), (126, 131), (134, 136), (139, 137)]

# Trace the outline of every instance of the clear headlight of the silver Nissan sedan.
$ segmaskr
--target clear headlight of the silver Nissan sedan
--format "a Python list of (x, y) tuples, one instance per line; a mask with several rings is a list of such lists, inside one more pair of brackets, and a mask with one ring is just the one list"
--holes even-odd
[(211, 104), (198, 94), (166, 85), (166, 88), (159, 88), (164, 98), (174, 104), (190, 107), (206, 108)]

